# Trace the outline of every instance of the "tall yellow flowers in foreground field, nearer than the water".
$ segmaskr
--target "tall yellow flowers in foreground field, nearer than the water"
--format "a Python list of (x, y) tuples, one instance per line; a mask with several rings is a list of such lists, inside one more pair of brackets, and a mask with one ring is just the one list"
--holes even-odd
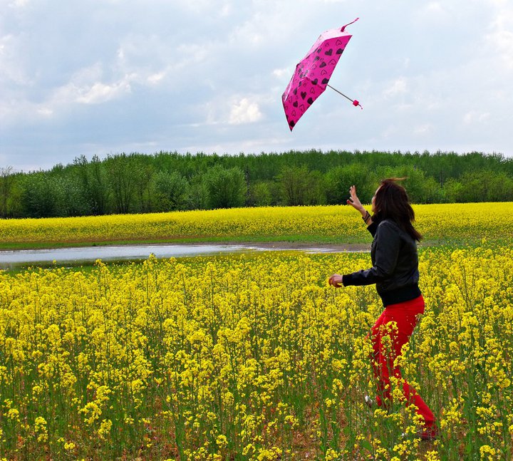
[(369, 263), (268, 252), (0, 274), (0, 459), (511, 459), (511, 244), (420, 252), (427, 309), (403, 370), (436, 442), (415, 439), (400, 398), (363, 403), (380, 301), (326, 280)]

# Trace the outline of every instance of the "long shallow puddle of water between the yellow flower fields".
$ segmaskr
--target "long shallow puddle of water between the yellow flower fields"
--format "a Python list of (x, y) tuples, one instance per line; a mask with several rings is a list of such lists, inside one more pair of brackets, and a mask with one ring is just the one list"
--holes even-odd
[[(79, 264), (102, 261), (130, 261), (147, 259), (150, 254), (157, 258), (194, 257), (220, 253), (237, 253), (247, 251), (280, 251), (290, 250), (279, 247), (258, 247), (249, 245), (224, 245), (224, 244), (151, 244), (151, 245), (118, 245), (105, 247), (76, 247), (58, 249), (31, 249), (0, 252), (0, 268), (11, 269), (13, 266), (24, 264)], [(336, 251), (330, 248), (301, 248), (307, 253), (323, 253)]]

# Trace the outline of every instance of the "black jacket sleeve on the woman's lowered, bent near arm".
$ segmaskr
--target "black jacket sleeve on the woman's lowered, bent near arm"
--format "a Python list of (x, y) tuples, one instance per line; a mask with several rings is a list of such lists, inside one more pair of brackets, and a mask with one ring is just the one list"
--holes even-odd
[(342, 276), (343, 286), (371, 285), (388, 279), (397, 265), (401, 239), (393, 224), (382, 222), (375, 231), (375, 264), (371, 269)]

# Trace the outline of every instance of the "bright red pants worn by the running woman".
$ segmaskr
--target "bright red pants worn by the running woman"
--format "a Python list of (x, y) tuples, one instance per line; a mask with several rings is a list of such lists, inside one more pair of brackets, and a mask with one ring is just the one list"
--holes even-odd
[[(424, 418), (425, 426), (430, 428), (435, 423), (432, 411), (417, 391), (403, 380), (399, 367), (394, 366), (395, 358), (401, 355), (403, 345), (408, 343), (420, 314), (424, 314), (423, 296), (385, 307), (383, 314), (371, 329), (373, 368), (375, 377), (378, 379), (378, 398), (376, 399), (378, 405), (383, 405), (383, 400), (391, 401), (390, 375), (395, 376), (403, 382), (403, 394), (407, 403), (409, 405), (413, 403), (417, 407), (417, 413)], [(395, 324), (387, 326), (389, 322), (395, 322)]]

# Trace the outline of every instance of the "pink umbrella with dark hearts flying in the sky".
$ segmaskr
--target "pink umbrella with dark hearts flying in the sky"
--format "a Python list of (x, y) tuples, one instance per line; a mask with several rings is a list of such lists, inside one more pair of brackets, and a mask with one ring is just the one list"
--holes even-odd
[[(355, 21), (358, 21), (358, 18), (353, 22)], [(349, 24), (353, 24), (353, 22)], [(301, 115), (326, 90), (326, 86), (340, 93), (344, 98), (348, 98), (348, 96), (328, 85), (328, 81), (351, 38), (351, 35), (346, 32), (346, 27), (349, 24), (341, 29), (330, 29), (321, 33), (314, 46), (310, 48), (310, 51), (296, 66), (294, 76), (292, 76), (285, 92), (281, 95), (291, 131)], [(348, 100), (354, 106), (360, 105), (356, 99), (348, 98)]]

